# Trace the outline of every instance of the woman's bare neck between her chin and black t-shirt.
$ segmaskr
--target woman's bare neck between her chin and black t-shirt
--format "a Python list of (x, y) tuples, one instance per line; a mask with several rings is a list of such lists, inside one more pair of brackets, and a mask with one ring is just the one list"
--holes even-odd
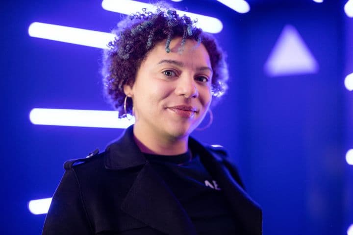
[(144, 153), (178, 155), (185, 153), (188, 149), (188, 136), (181, 138), (161, 136), (136, 126), (136, 124), (133, 133), (137, 146)]

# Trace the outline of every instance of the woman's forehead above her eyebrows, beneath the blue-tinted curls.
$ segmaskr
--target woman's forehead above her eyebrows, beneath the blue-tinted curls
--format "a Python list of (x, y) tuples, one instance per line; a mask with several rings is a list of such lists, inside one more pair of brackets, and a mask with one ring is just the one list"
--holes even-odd
[(145, 62), (158, 63), (163, 59), (171, 59), (180, 61), (186, 65), (195, 67), (207, 66), (211, 67), (210, 58), (203, 44), (199, 44), (195, 40), (187, 39), (184, 46), (181, 46), (181, 37), (174, 38), (169, 48), (171, 51), (165, 51), (166, 40), (157, 43), (147, 54)]

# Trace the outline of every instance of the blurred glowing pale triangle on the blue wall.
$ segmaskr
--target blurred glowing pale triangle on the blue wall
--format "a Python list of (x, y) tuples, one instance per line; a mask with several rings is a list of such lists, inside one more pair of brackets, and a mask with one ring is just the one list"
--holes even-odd
[(264, 70), (269, 76), (301, 75), (318, 72), (319, 65), (296, 28), (286, 25)]

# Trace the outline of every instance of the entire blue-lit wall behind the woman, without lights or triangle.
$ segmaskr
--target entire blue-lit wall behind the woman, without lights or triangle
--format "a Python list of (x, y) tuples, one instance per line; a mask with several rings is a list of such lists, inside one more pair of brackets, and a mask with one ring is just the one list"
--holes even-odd
[[(345, 234), (353, 223), (353, 173), (345, 162), (353, 148), (353, 132), (346, 131), (352, 130), (353, 99), (343, 86), (353, 72), (353, 49), (344, 47), (345, 39), (347, 45), (353, 41), (352, 19), (337, 1), (249, 2), (252, 10), (245, 15), (211, 0), (174, 3), (224, 24), (216, 37), (228, 55), (229, 93), (213, 108), (212, 126), (194, 136), (227, 147), (263, 207), (265, 235)], [(51, 197), (65, 160), (103, 150), (122, 130), (30, 123), (35, 107), (110, 107), (101, 94), (100, 49), (32, 38), (28, 26), (43, 22), (108, 32), (120, 16), (93, 0), (6, 1), (1, 11), (0, 231), (37, 235), (45, 215), (31, 214), (27, 202)], [(317, 73), (264, 72), (287, 24), (318, 62)]]

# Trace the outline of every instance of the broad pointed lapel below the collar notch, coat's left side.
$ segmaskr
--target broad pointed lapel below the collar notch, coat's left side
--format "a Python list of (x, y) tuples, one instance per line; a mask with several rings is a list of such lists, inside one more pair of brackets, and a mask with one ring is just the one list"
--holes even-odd
[(196, 235), (189, 216), (149, 163), (138, 174), (121, 209), (163, 233)]

